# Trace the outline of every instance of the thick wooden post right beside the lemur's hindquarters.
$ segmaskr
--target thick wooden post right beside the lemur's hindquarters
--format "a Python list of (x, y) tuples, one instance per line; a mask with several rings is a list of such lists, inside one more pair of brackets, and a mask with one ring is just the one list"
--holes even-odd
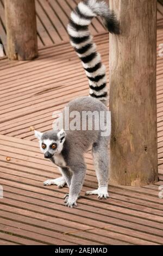
[(109, 0), (121, 34), (110, 35), (110, 182), (158, 181), (156, 0)]

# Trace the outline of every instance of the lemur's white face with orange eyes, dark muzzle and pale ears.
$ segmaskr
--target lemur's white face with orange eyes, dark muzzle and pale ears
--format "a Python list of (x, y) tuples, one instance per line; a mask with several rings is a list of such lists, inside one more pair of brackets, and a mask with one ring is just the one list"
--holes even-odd
[(66, 133), (64, 130), (59, 132), (39, 132), (35, 130), (35, 137), (39, 139), (40, 150), (44, 154), (45, 158), (51, 159), (54, 154), (61, 153)]

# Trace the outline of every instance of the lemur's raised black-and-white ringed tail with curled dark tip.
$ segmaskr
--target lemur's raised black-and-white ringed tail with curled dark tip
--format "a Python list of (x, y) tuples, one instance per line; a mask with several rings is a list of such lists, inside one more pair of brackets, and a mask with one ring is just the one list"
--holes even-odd
[(80, 2), (71, 13), (67, 27), (71, 45), (82, 60), (87, 78), (89, 78), (90, 96), (106, 102), (105, 66), (101, 56), (96, 52), (96, 44), (92, 42), (89, 25), (93, 17), (100, 16), (110, 33), (119, 33), (119, 24), (115, 14), (104, 1), (87, 0)]

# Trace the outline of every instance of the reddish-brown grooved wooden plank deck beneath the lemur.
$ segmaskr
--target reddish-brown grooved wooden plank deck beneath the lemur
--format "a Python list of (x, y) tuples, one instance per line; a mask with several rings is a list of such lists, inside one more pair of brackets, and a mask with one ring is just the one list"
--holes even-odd
[[(46, 5), (41, 7), (42, 2)], [(49, 3), (58, 8), (64, 3), (62, 10), (68, 15), (70, 3), (75, 1), (36, 1), (37, 20), (40, 17), (46, 27), (42, 34), (41, 27), (37, 28), (43, 42), (47, 32), (54, 36), (50, 30), (54, 24), (48, 26), (46, 18), (54, 13)], [(163, 10), (158, 7), (159, 46), (163, 42)], [(65, 16), (61, 15), (60, 21), (66, 26)], [(108, 34), (98, 20), (95, 22), (95, 42), (109, 70)], [(68, 188), (43, 187), (43, 181), (57, 178), (59, 172), (43, 159), (30, 126), (51, 130), (53, 112), (89, 92), (82, 65), (66, 36), (63, 33), (58, 42), (48, 38), (44, 47), (40, 45), (39, 58), (32, 62), (1, 59), (0, 185), (4, 198), (0, 199), (0, 245), (162, 245), (163, 199), (158, 193), (163, 185), (163, 57), (158, 57), (157, 65), (159, 182), (139, 188), (110, 185), (108, 200), (85, 196), (85, 191), (97, 187), (92, 157), (87, 153), (87, 174), (78, 208), (65, 207), (63, 197)]]

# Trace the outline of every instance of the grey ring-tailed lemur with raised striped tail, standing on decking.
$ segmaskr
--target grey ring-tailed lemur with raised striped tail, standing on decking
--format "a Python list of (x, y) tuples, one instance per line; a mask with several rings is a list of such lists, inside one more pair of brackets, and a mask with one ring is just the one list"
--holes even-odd
[[(104, 105), (107, 98), (105, 66), (101, 63), (99, 53), (96, 52), (96, 45), (92, 42), (92, 36), (88, 28), (92, 18), (96, 16), (102, 17), (109, 32), (119, 33), (118, 22), (114, 13), (104, 1), (97, 0), (80, 2), (77, 8), (72, 11), (67, 27), (71, 44), (82, 60), (86, 75), (89, 78), (90, 96), (72, 100), (67, 105), (70, 113), (72, 111), (78, 111), (80, 117), (82, 117), (84, 111), (96, 111), (98, 113), (102, 111), (106, 113), (107, 111)], [(94, 120), (94, 123), (96, 121)], [(71, 120), (69, 120), (70, 122)], [(55, 184), (63, 187), (67, 184), (70, 188), (70, 193), (66, 195), (65, 202), (69, 207), (77, 205), (76, 202), (86, 172), (83, 155), (90, 146), (92, 146), (93, 160), (95, 162), (98, 189), (87, 191), (86, 194), (97, 194), (98, 198), (109, 197), (109, 136), (101, 136), (101, 131), (101, 129), (89, 130), (88, 127), (86, 130), (75, 131), (53, 130), (45, 133), (35, 131), (35, 136), (40, 140), (41, 151), (45, 154), (46, 158), (51, 159), (59, 167), (62, 174), (61, 178), (47, 180), (44, 182), (44, 185)]]

